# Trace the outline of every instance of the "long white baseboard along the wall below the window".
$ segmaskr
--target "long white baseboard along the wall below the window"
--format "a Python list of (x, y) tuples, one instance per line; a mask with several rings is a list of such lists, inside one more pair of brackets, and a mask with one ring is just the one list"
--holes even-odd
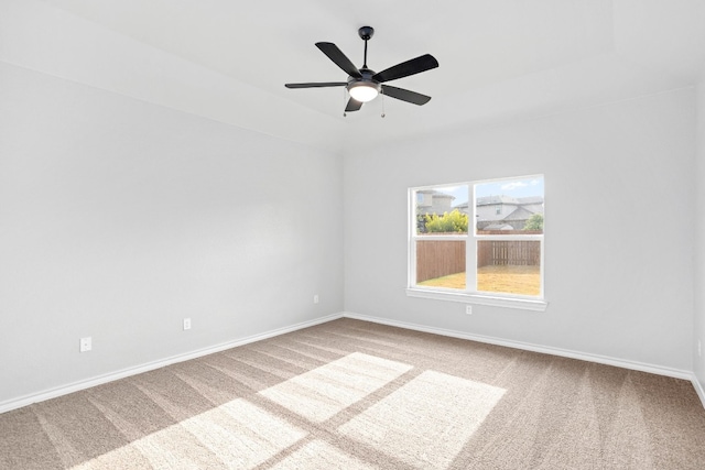
[[(649, 372), (652, 374), (665, 375), (674, 379), (683, 379), (688, 381), (693, 379), (693, 372), (691, 371), (664, 368), (661, 365), (647, 364), (643, 362), (627, 361), (623, 359), (615, 359), (606, 356), (589, 354), (586, 352), (572, 351), (568, 349), (561, 349), (561, 348), (551, 348), (547, 346), (532, 345), (529, 342), (511, 341), (511, 340), (494, 338), (489, 336), (471, 335), (463, 331), (434, 328), (434, 327), (429, 327), (424, 325), (409, 324), (405, 321), (390, 320), (387, 318), (370, 317), (367, 315), (358, 315), (351, 311), (345, 311), (343, 316), (346, 318), (371, 321), (380, 325), (388, 325), (392, 327), (405, 328), (405, 329), (411, 329), (415, 331), (431, 332), (434, 335), (447, 336), (452, 338), (468, 339), (470, 341), (486, 342), (489, 345), (506, 346), (508, 348), (522, 349), (522, 350), (533, 351), (533, 352), (542, 352), (545, 354), (560, 356), (563, 358), (578, 359), (581, 361), (596, 362), (598, 364), (615, 365), (617, 368), (630, 369), (630, 370), (641, 371), (641, 372)], [(702, 393), (702, 389), (701, 389), (701, 392), (698, 392), (698, 394), (701, 393)], [(702, 398), (703, 398), (703, 395), (701, 394), (701, 400)], [(705, 401), (703, 403), (705, 406)]]

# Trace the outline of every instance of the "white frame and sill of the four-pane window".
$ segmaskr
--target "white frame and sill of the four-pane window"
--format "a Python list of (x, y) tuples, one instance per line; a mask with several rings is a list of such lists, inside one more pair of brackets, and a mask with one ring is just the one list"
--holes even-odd
[[(512, 179), (527, 179), (531, 177), (543, 177), (543, 175), (529, 175), (519, 177), (506, 177), (497, 179), (484, 179), (474, 182), (464, 182), (457, 184), (438, 184), (433, 186), (419, 186), (409, 188), (409, 272), (406, 295), (410, 297), (431, 298), (437, 300), (451, 300), (460, 302), (466, 304), (487, 305), (507, 308), (520, 308), (524, 310), (544, 311), (549, 305), (544, 294), (544, 234), (525, 234), (525, 236), (502, 236), (502, 234), (477, 234), (476, 232), (476, 203), (475, 203), (475, 186), (482, 183), (503, 182)], [(468, 209), (473, 208), (471, 216), (468, 222), (468, 233), (457, 234), (438, 234), (438, 236), (420, 236), (416, 233), (416, 193), (427, 189), (443, 189), (444, 187), (452, 186), (465, 186), (468, 187)], [(545, 232), (545, 226), (544, 226)], [(445, 287), (429, 287), (416, 285), (416, 241), (417, 240), (463, 240), (466, 243), (465, 247), (465, 265), (466, 265), (466, 287), (465, 289), (445, 288)], [(477, 242), (489, 240), (525, 240), (525, 241), (539, 241), (541, 253), (541, 292), (538, 296), (517, 295), (508, 293), (487, 293), (476, 289), (477, 286), (477, 269), (469, 269), (470, 266), (477, 266)], [(471, 287), (470, 287), (471, 286)]]

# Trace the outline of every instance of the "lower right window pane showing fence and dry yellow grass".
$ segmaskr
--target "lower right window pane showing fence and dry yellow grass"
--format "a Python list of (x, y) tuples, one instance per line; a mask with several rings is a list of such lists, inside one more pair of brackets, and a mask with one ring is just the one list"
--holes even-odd
[(541, 295), (541, 242), (538, 240), (478, 241), (477, 289)]

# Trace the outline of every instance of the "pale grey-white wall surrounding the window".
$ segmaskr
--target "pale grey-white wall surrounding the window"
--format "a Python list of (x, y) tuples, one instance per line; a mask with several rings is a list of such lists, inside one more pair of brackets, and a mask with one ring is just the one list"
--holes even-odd
[[(346, 310), (691, 371), (694, 100), (684, 89), (346, 156)], [(406, 297), (408, 187), (536, 173), (545, 313)]]

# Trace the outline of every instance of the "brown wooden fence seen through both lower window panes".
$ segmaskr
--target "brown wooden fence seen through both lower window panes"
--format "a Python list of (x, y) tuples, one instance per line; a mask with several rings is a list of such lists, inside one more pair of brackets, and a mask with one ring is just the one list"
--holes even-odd
[[(465, 272), (464, 240), (417, 240), (416, 282)], [(480, 240), (477, 265), (538, 266), (541, 243), (536, 240)]]

